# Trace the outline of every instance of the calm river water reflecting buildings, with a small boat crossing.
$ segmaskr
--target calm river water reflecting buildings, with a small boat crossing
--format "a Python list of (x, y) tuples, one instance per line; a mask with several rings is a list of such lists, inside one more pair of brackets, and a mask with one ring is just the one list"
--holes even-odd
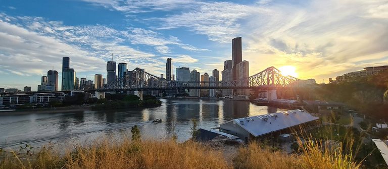
[[(190, 138), (190, 119), (196, 118), (206, 129), (241, 117), (278, 111), (275, 107), (258, 106), (248, 101), (211, 99), (161, 99), (161, 106), (142, 109), (73, 111), (50, 114), (0, 116), (0, 148), (30, 144), (38, 147), (55, 144), (90, 143), (96, 138), (130, 136), (131, 127), (139, 126), (143, 139), (171, 138), (173, 126), (179, 141)], [(161, 118), (162, 123), (152, 123)]]

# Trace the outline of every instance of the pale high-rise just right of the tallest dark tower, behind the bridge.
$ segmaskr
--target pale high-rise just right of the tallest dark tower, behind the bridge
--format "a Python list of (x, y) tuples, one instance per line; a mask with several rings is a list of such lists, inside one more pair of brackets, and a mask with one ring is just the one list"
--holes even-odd
[[(240, 86), (248, 86), (248, 78), (249, 78), (249, 62), (243, 61), (236, 65), (236, 74), (237, 74), (237, 85)], [(247, 89), (239, 89), (237, 93), (239, 95), (250, 95), (250, 90)]]

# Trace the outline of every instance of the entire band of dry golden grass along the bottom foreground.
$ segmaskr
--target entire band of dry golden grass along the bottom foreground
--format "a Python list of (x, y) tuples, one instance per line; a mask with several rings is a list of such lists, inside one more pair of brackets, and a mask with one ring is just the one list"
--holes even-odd
[[(301, 140), (299, 140), (302, 145)], [(142, 141), (104, 139), (89, 146), (76, 146), (60, 155), (50, 148), (29, 156), (3, 153), (0, 168), (360, 168), (342, 146), (322, 148), (308, 140), (301, 154), (288, 155), (269, 146), (251, 143), (240, 147), (233, 162), (220, 151), (188, 141)], [(34, 158), (28, 160), (24, 157)]]

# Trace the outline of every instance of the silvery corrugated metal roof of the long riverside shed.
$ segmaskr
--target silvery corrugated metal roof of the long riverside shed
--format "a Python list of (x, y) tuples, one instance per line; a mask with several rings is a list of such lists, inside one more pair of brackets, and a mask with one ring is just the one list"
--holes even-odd
[(223, 125), (229, 125), (230, 122), (234, 122), (253, 136), (258, 137), (318, 119), (319, 118), (314, 117), (303, 110), (296, 109), (284, 112), (275, 112), (273, 114), (234, 119), (220, 124), (220, 128), (222, 129)]

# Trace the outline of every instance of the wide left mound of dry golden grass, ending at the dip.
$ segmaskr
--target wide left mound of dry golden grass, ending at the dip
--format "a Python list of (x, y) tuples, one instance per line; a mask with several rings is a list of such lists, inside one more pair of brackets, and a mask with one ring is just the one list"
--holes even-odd
[(88, 147), (76, 147), (63, 156), (42, 149), (36, 160), (13, 154), (1, 160), (0, 168), (231, 168), (219, 151), (199, 143), (173, 141), (104, 140)]

